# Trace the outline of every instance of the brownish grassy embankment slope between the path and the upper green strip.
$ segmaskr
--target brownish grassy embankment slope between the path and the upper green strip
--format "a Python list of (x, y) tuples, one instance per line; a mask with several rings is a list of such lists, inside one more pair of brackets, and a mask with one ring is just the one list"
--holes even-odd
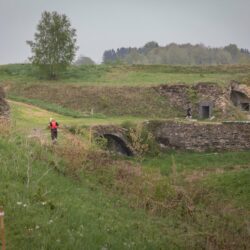
[(14, 84), (7, 91), (7, 96), (60, 113), (67, 111), (70, 114), (73, 111), (74, 116), (89, 114), (91, 110), (94, 116), (99, 117), (102, 114), (150, 118), (180, 113), (152, 88)]

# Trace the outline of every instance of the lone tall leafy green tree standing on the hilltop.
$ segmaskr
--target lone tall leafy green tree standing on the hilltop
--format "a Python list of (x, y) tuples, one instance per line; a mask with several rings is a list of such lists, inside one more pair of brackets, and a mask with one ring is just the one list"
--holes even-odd
[(76, 30), (71, 28), (66, 15), (44, 11), (34, 41), (27, 41), (27, 44), (33, 53), (31, 62), (50, 79), (55, 79), (75, 57)]

